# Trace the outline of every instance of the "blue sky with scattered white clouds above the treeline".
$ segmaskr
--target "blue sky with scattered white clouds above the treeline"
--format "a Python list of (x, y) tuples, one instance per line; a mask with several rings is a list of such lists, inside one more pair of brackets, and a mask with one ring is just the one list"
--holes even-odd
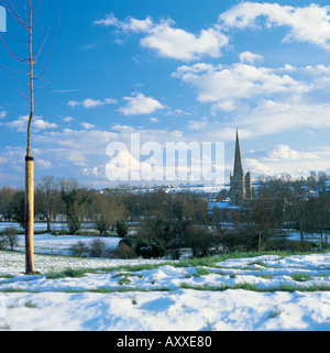
[[(61, 25), (48, 82), (35, 91), (36, 179), (112, 186), (107, 145), (129, 144), (138, 132), (162, 145), (224, 142), (228, 177), (237, 126), (253, 177), (330, 173), (328, 9), (326, 1), (42, 1), (51, 34), (59, 10)], [(23, 35), (10, 16), (7, 27)], [(3, 41), (26, 55), (10, 33)], [(36, 26), (35, 47), (43, 34)], [(26, 69), (3, 46), (0, 63)], [(26, 77), (13, 75), (0, 70), (0, 186), (24, 179), (29, 104), (18, 89), (28, 95)]]

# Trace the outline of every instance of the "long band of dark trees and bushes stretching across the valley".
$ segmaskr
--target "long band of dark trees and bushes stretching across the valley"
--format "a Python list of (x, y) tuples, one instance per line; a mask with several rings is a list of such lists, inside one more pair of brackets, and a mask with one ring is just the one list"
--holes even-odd
[[(228, 219), (227, 210), (210, 212), (206, 196), (194, 192), (167, 194), (162, 189), (132, 192), (128, 188), (98, 191), (75, 179), (45, 176), (36, 183), (35, 214), (47, 223), (67, 222), (70, 234), (77, 234), (84, 222), (94, 224), (100, 235), (117, 230), (125, 246), (143, 257), (169, 254), (178, 258), (185, 249), (195, 256), (215, 252), (272, 249), (304, 250), (306, 233), (319, 234), (327, 245), (330, 236), (330, 191), (328, 177), (311, 174), (308, 178), (260, 178), (254, 199), (235, 210)], [(223, 199), (224, 191), (219, 194)], [(3, 220), (24, 227), (24, 192), (0, 189), (0, 214)], [(135, 223), (133, 236), (128, 235), (128, 221)], [(233, 227), (224, 227), (229, 221)], [(228, 222), (227, 222), (228, 223)], [(227, 224), (228, 225), (228, 224)], [(283, 229), (296, 229), (300, 242), (279, 241)]]

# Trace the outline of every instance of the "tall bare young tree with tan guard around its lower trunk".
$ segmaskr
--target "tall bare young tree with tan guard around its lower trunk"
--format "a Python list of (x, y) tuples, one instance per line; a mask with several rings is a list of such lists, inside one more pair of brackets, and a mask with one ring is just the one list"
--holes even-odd
[[(29, 69), (26, 71), (20, 71), (18, 69), (9, 68), (4, 65), (0, 65), (0, 69), (9, 75), (10, 77), (16, 79), (14, 77), (15, 74), (28, 75), (29, 81), (25, 82), (29, 86), (29, 95), (25, 96), (21, 91), (19, 91), (23, 97), (25, 97), (30, 102), (30, 114), (28, 120), (28, 146), (26, 146), (26, 155), (25, 155), (25, 273), (32, 274), (34, 273), (34, 260), (33, 260), (33, 235), (34, 235), (34, 157), (31, 154), (31, 128), (32, 121), (34, 117), (34, 89), (41, 88), (35, 86), (35, 81), (38, 79), (43, 79), (42, 75), (47, 66), (50, 56), (52, 54), (53, 47), (48, 53), (47, 60), (43, 66), (41, 73), (35, 74), (35, 66), (40, 64), (40, 55), (44, 48), (45, 43), (47, 42), (48, 31), (42, 36), (41, 44), (34, 52), (34, 29), (37, 23), (37, 15), (40, 13), (41, 0), (25, 0), (20, 1), (20, 4), (14, 0), (0, 0), (0, 4), (3, 5), (7, 13), (18, 23), (24, 33), (24, 40), (18, 40), (23, 45), (26, 46), (28, 52), (26, 56), (20, 57), (16, 55), (6, 43), (3, 37), (0, 35), (0, 41), (3, 44), (6, 51), (10, 54), (10, 56), (19, 64), (28, 65)], [(9, 31), (8, 33), (14, 37)], [(57, 36), (57, 34), (56, 34)], [(55, 42), (55, 41), (54, 41)], [(53, 43), (54, 45), (54, 43)], [(44, 80), (44, 79), (43, 79)]]

